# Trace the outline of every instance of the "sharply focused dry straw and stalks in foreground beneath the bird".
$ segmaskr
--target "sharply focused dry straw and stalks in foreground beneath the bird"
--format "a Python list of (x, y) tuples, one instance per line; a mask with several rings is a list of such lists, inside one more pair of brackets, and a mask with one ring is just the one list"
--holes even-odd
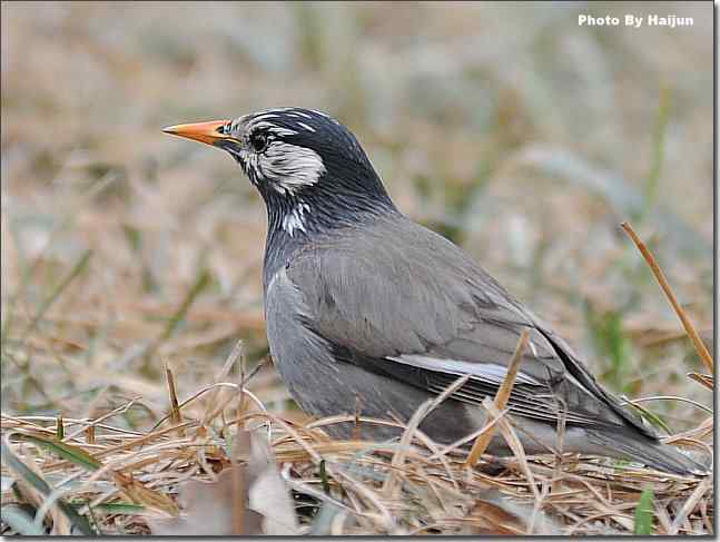
[[(661, 277), (669, 299), (674, 300), (651, 253), (631, 226), (623, 228)], [(673, 307), (688, 334), (698, 336), (682, 308), (677, 303)], [(249, 530), (250, 509), (244, 503), (251, 490), (243, 489), (244, 477), (225, 493), (219, 489), (215, 493), (190, 490), (188, 485), (193, 480), (207, 480), (219, 487), (218, 474), (235, 472), (228, 467), (237, 464), (237, 451), (233, 450), (237, 445), (230, 443), (249, 430), (250, 434), (267, 432), (272, 450), (268, 460), (282, 469), (285, 489), (293, 489), (298, 500), (309, 499), (298, 506), (304, 509), (300, 534), (713, 534), (710, 476), (671, 475), (601, 457), (524, 453), (501, 408), (512, 391), (526, 342), (527, 334), (523, 333), (494, 403), (487, 397), (483, 402), (490, 415), (487, 425), (446, 446), (434, 443), (418, 426), (469, 376), (457, 378), (436, 398), (421, 405), (406, 425), (357, 413), (295, 423), (268, 413), (244, 387), (256, 372), (246, 377), (241, 343), (218, 374), (218, 378), (227, 377), (239, 362), (239, 383), (215, 382), (183, 403), (177, 397), (174, 373), (166, 365), (170, 411), (147, 433), (112, 425), (112, 418), (128, 412), (136, 400), (93, 420), (3, 414), (3, 474), (11, 482), (3, 490), (2, 501), (12, 509), (3, 521), (26, 534), (42, 532), (46, 523), (52, 534), (217, 534), (225, 531), (208, 531), (208, 524), (219, 523), (218, 511), (229, 505), (234, 521), (228, 533), (268, 533), (259, 522), (283, 515), (277, 510), (277, 494), (270, 497), (274, 504), (263, 511), (266, 515), (259, 515)], [(703, 344), (699, 349), (701, 356), (709, 356)], [(712, 390), (712, 374), (689, 376)], [(642, 408), (638, 403), (635, 406)], [(187, 421), (183, 408), (194, 413)], [(650, 415), (644, 408), (641, 412)], [(402, 437), (379, 443), (337, 441), (323, 432), (328, 425), (347, 421), (395, 425), (402, 430)], [(564, 424), (560, 427), (558, 450), (563, 449)], [(496, 428), (513, 456), (482, 455)], [(708, 459), (713, 454), (708, 444), (712, 432), (710, 416), (664, 441), (696, 449)], [(473, 438), (467, 452), (463, 445)], [(481, 456), (484, 461), (479, 464)], [(47, 484), (46, 480), (58, 475), (58, 483)], [(195, 499), (184, 497), (185, 509), (177, 502), (184, 491), (196, 493)], [(21, 511), (22, 503), (36, 505), (34, 516)], [(238, 510), (245, 511), (239, 520)], [(284, 513), (295, 511), (290, 507)], [(85, 518), (91, 518), (92, 523)], [(159, 530), (168, 519), (178, 521), (176, 518), (185, 519), (170, 531)], [(287, 523), (272, 532), (298, 534), (297, 528)]]

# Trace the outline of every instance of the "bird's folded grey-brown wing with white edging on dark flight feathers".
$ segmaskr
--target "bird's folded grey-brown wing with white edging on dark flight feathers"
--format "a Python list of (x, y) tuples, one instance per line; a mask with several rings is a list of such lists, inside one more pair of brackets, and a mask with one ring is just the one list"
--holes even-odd
[(287, 275), (309, 308), (305, 325), (336, 359), (433, 393), (470, 374), (452, 397), (476, 404), (495, 394), (526, 329), (511, 412), (556, 423), (564, 410), (569, 424), (653, 434), (470, 256), (407, 219), (306, 247)]

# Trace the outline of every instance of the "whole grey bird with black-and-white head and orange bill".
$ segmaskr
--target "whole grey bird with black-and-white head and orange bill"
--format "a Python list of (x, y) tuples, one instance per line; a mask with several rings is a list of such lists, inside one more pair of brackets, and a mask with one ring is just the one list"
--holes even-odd
[[(487, 422), (482, 402), (497, 393), (524, 332), (507, 415), (525, 452), (707, 472), (663, 444), (465, 250), (405, 216), (358, 139), (332, 116), (282, 107), (164, 131), (227, 151), (264, 199), (269, 352), (307, 414), (407, 422), (465, 377), (420, 425), (436, 442), (462, 441)], [(355, 421), (327, 431), (384, 441), (402, 430)], [(494, 436), (487, 453), (511, 451)]]

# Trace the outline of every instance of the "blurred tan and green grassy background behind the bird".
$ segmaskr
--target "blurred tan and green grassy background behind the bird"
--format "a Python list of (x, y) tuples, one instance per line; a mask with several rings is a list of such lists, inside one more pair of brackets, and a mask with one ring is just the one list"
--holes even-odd
[[(276, 106), (351, 127), (398, 206), (609, 387), (711, 404), (619, 228), (632, 223), (711, 342), (711, 2), (1, 9), (3, 411), (82, 417), (139, 397), (124, 423), (147, 428), (168, 408), (164, 363), (183, 400), (238, 339), (246, 372), (266, 358), (263, 203), (227, 156), (160, 130)], [(578, 26), (629, 12), (694, 26)], [(302, 416), (272, 364), (249, 387)], [(672, 431), (707, 417), (643, 406)]]

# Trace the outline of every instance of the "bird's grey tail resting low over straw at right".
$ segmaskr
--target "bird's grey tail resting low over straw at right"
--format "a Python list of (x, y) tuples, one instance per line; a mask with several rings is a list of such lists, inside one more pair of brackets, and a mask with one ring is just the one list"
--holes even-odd
[(613, 456), (642, 463), (658, 471), (680, 475), (707, 475), (710, 473), (708, 466), (674, 446), (639, 435), (635, 432), (627, 434), (619, 431), (611, 434), (604, 431), (593, 431), (589, 432), (589, 436), (591, 440), (600, 441), (596, 444), (602, 445), (605, 450), (614, 452)]

